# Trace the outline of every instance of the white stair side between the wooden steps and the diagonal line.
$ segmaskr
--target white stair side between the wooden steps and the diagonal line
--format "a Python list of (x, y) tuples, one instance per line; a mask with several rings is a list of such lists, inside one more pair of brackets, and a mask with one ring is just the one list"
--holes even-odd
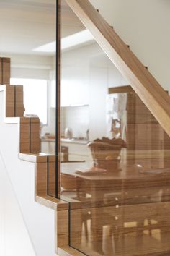
[[(3, 111), (2, 102), (0, 111)], [(55, 256), (54, 211), (35, 202), (35, 164), (19, 160), (18, 143), (17, 124), (3, 124), (0, 120), (0, 152), (35, 254)]]

